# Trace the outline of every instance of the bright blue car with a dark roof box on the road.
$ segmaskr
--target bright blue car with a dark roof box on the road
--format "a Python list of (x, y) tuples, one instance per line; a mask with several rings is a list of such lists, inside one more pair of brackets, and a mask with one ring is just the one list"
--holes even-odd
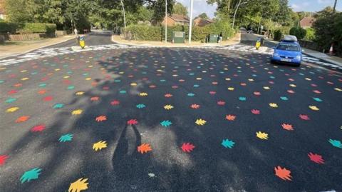
[(299, 46), (298, 41), (281, 41), (274, 47), (271, 63), (284, 62), (300, 66), (301, 52), (301, 46)]

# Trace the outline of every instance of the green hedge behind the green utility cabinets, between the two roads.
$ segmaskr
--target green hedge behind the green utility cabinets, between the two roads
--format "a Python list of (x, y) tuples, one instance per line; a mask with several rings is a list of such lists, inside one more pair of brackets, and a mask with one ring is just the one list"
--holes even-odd
[[(128, 34), (128, 31), (132, 34), (132, 39), (140, 41), (163, 41), (165, 40), (165, 27), (164, 26), (146, 26), (146, 25), (130, 25), (123, 33)], [(172, 31), (184, 31), (185, 37), (188, 39), (189, 26), (167, 26), (167, 40), (171, 41)], [(230, 27), (228, 23), (224, 21), (217, 21), (216, 23), (209, 24), (207, 26), (194, 26), (192, 28), (192, 41), (205, 41), (208, 34), (220, 34), (222, 38), (227, 39), (234, 35), (234, 29)]]

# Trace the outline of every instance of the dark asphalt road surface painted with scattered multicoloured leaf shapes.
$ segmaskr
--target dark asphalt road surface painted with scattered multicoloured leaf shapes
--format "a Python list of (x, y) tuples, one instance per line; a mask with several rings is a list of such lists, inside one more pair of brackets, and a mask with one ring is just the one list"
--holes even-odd
[(0, 191), (342, 191), (342, 71), (253, 38), (0, 61)]

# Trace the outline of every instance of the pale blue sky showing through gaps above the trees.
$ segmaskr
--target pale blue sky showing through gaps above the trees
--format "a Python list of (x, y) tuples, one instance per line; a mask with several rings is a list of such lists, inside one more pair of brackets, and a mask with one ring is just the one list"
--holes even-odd
[[(250, 0), (255, 1), (255, 0)], [(177, 0), (187, 6), (190, 13), (190, 0)], [(334, 0), (289, 0), (289, 6), (294, 11), (321, 11), (326, 6), (333, 6)], [(208, 5), (206, 0), (194, 0), (194, 9), (192, 16), (195, 17), (201, 13), (206, 13), (210, 18), (214, 17), (216, 5)], [(336, 9), (342, 11), (342, 0), (337, 1)]]

